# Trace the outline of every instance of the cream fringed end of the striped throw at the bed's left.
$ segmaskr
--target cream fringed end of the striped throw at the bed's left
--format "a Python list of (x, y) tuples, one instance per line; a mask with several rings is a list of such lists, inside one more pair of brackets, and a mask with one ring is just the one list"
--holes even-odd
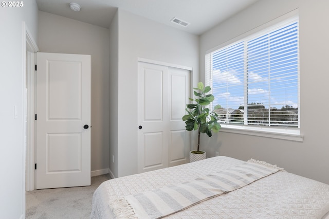
[(116, 218), (138, 218), (135, 214), (133, 207), (130, 203), (123, 197), (116, 199), (110, 207), (112, 208), (113, 213)]

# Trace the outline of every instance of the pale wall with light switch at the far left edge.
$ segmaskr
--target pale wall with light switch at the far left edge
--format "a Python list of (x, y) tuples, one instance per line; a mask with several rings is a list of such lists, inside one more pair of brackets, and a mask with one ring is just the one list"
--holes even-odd
[[(23, 22), (37, 41), (35, 1), (24, 1), (22, 8), (0, 7), (0, 218), (25, 215)], [(14, 106), (17, 118), (14, 118)]]

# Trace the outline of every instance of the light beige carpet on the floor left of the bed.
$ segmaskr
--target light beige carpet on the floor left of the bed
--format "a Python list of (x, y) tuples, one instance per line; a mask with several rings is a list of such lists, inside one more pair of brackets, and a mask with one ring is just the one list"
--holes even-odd
[(89, 218), (93, 194), (109, 174), (92, 177), (92, 185), (26, 192), (26, 218)]

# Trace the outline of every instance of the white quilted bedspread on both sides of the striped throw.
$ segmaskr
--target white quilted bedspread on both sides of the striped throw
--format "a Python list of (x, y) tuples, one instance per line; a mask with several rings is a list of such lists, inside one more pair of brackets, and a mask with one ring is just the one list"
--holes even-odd
[[(241, 164), (219, 156), (172, 168), (110, 179), (94, 193), (91, 218), (113, 218), (118, 198), (193, 180)], [(329, 212), (329, 185), (279, 171), (168, 218), (321, 218)]]

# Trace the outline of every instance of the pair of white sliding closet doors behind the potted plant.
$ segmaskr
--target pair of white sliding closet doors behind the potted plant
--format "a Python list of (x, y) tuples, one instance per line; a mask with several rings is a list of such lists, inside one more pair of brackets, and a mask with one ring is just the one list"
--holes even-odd
[(138, 63), (138, 173), (188, 162), (189, 83), (188, 70)]

